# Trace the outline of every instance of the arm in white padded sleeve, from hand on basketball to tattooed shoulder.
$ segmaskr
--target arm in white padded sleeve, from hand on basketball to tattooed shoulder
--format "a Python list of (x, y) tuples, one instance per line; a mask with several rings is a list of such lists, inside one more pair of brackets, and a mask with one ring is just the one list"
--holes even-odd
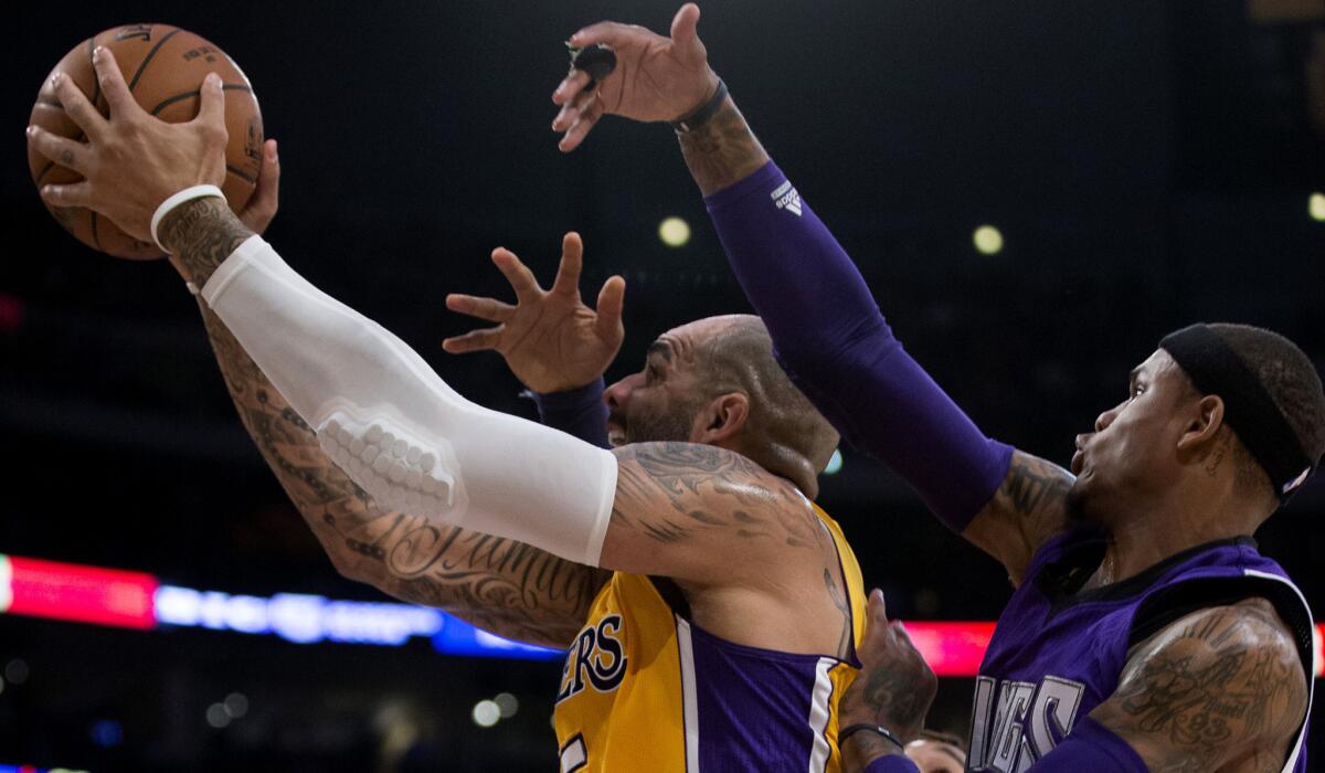
[[(448, 526), (460, 526), (575, 564), (697, 582), (745, 579), (723, 571), (738, 540), (749, 564), (771, 571), (799, 541), (783, 518), (803, 528), (799, 534), (828, 538), (807, 501), (794, 510), (770, 509), (767, 521), (739, 508), (780, 496), (783, 484), (767, 473), (753, 477), (734, 453), (716, 452), (716, 460), (705, 456), (692, 465), (684, 453), (653, 463), (617, 452), (617, 463), (583, 440), (470, 403), (399, 338), (294, 272), (223, 199), (180, 203), (159, 212), (154, 227), (152, 212), (163, 202), (180, 202), (171, 191), (196, 192), (193, 186), (215, 184), (224, 174), (220, 82), (204, 82), (193, 122), (170, 125), (138, 107), (107, 50), (93, 60), (110, 118), (68, 82), (57, 84), (89, 142), (41, 131), (33, 142), (42, 152), (69, 151), (85, 180), (46, 187), (44, 196), (97, 209), (139, 239), (159, 237), (184, 278), (201, 288), (207, 306), (317, 432), (319, 447), (384, 509), (416, 516), (411, 524), (439, 540)], [(700, 525), (684, 529), (681, 518)], [(659, 548), (651, 532), (668, 529), (705, 538)], [(766, 585), (750, 581), (757, 591)]]

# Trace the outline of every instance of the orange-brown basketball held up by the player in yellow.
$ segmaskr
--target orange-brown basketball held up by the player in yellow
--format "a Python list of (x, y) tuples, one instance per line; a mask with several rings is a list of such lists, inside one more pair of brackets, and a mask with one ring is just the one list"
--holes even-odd
[[(91, 64), (91, 52), (98, 45), (115, 54), (129, 90), (143, 110), (171, 123), (191, 121), (197, 115), (199, 89), (207, 73), (215, 72), (221, 77), (225, 129), (229, 131), (221, 191), (232, 209), (241, 209), (253, 194), (262, 167), (262, 114), (238, 65), (220, 48), (192, 32), (166, 24), (130, 24), (85, 40), (65, 54), (42, 81), (37, 103), (32, 107), (30, 123), (61, 137), (78, 141), (83, 138), (82, 130), (65, 114), (50, 88), (50, 77), (58, 72), (66, 73), (102, 115), (109, 114)], [(45, 184), (77, 183), (82, 179), (77, 172), (38, 154), (32, 141), (28, 142), (28, 168), (38, 190)], [(49, 204), (46, 209), (65, 231), (93, 249), (134, 260), (162, 257), (155, 244), (129, 236), (91, 209)]]

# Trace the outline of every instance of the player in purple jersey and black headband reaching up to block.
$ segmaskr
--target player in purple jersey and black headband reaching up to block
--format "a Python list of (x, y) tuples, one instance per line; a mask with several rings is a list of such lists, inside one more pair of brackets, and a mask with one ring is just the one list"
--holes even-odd
[[(685, 5), (670, 37), (615, 23), (575, 33), (574, 46), (611, 46), (617, 68), (592, 91), (571, 73), (553, 129), (572, 150), (604, 113), (689, 115), (686, 164), (795, 383), (1007, 567), (1016, 590), (977, 679), (969, 769), (1305, 770), (1310, 614), (1251, 534), (1325, 452), (1310, 361), (1267, 330), (1195, 325), (1132, 371), (1126, 399), (1077, 438), (1071, 472), (990, 440), (906, 354), (768, 160), (708, 65), (698, 15)], [(914, 651), (872, 614), (843, 699), (844, 721), (868, 727), (844, 728), (844, 748), (857, 769), (914, 770), (897, 743), (914, 729)]]

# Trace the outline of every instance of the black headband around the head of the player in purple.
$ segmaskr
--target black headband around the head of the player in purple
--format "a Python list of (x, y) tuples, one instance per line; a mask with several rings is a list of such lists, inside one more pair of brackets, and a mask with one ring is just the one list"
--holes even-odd
[(1269, 473), (1279, 500), (1285, 501), (1314, 464), (1256, 374), (1218, 333), (1199, 322), (1165, 335), (1159, 347), (1198, 390), (1223, 398), (1224, 422)]

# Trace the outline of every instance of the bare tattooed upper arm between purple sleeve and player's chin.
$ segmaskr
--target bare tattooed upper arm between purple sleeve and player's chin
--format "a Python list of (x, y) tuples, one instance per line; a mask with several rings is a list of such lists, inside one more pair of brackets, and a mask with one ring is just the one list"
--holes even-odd
[(1040, 545), (1067, 528), (1073, 480), (1052, 461), (1014, 451), (1002, 485), (962, 537), (998, 558), (1019, 585)]

